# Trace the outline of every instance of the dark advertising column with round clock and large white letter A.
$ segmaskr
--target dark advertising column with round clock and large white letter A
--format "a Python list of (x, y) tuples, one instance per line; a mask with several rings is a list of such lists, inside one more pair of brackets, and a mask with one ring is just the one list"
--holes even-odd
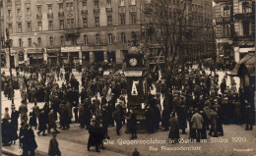
[[(144, 54), (138, 47), (131, 47), (125, 55), (124, 75), (127, 79), (127, 95), (128, 95), (128, 112), (133, 110), (137, 121), (140, 123), (137, 132), (147, 132), (145, 128), (145, 106), (147, 99), (147, 80), (145, 73), (147, 67), (145, 65)], [(129, 123), (129, 117), (127, 117)], [(129, 132), (129, 129), (126, 130)]]

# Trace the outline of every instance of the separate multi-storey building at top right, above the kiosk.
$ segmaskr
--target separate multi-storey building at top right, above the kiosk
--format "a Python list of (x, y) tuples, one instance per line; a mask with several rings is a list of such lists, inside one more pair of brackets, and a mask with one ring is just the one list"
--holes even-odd
[(238, 62), (255, 51), (255, 1), (215, 0), (217, 55)]

